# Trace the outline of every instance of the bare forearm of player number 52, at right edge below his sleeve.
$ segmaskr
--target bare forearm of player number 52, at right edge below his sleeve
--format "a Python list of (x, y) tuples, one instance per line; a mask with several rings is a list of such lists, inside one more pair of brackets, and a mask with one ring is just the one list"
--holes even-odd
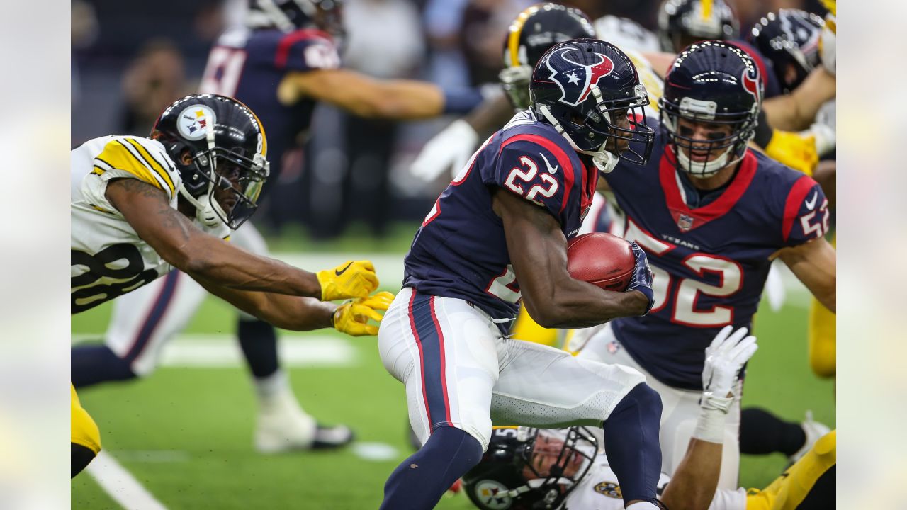
[(779, 250), (778, 257), (790, 268), (797, 280), (802, 281), (806, 289), (813, 293), (815, 299), (826, 309), (833, 312), (836, 310), (836, 253), (827, 240), (811, 240)]

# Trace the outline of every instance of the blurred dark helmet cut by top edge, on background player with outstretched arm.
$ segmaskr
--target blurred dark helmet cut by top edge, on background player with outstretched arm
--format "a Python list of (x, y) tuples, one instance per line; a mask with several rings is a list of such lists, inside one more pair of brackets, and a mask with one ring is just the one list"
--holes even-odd
[(343, 0), (249, 0), (246, 25), (284, 32), (315, 27), (336, 40), (346, 35)]

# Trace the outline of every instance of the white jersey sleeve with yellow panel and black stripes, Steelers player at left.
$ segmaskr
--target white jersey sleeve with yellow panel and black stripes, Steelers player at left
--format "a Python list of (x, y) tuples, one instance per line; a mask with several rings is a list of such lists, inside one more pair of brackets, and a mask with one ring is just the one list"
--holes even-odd
[(180, 187), (180, 174), (161, 142), (135, 136), (119, 136), (104, 145), (94, 157), (92, 173), (101, 181), (138, 179), (167, 194), (172, 200)]

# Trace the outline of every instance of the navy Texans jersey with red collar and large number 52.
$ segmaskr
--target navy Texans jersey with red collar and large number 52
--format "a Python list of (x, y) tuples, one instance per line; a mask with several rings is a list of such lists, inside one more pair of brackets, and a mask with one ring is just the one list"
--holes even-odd
[(607, 175), (626, 213), (624, 237), (646, 250), (655, 277), (649, 315), (611, 325), (652, 376), (701, 390), (705, 348), (727, 324), (752, 326), (769, 257), (823, 237), (828, 201), (812, 178), (747, 150), (727, 189), (690, 209), (684, 194), (695, 191), (680, 185), (670, 151), (659, 133), (648, 165), (619, 163)]

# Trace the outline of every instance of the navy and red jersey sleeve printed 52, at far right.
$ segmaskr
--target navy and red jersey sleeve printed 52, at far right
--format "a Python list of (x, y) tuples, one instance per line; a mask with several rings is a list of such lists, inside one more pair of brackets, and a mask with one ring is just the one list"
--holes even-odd
[(785, 200), (782, 238), (785, 246), (819, 239), (828, 232), (828, 199), (822, 187), (807, 175), (794, 181)]

